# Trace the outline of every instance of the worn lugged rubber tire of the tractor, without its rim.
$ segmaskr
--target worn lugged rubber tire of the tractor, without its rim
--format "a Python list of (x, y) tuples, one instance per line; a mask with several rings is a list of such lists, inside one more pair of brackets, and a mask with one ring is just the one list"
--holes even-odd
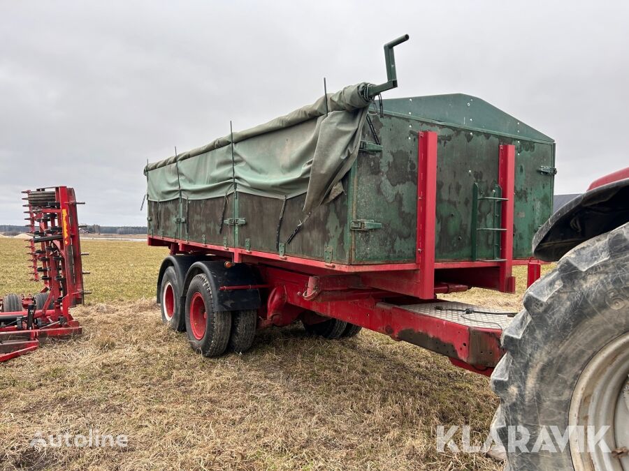
[(544, 426), (563, 433), (588, 361), (629, 331), (629, 223), (573, 248), (523, 302), (503, 332), (507, 353), (491, 375), (500, 397), (492, 432), (507, 447), (507, 469), (573, 470), (570, 446), (556, 453), (509, 450), (508, 427), (528, 428), (528, 449)]

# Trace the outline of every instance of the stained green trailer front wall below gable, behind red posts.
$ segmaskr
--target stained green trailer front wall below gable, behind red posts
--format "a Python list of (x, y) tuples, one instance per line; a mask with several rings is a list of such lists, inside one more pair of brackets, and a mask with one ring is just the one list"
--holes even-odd
[[(417, 230), (417, 133), (438, 134), (435, 259), (495, 260), (500, 257), (501, 144), (516, 147), (514, 257), (532, 255), (530, 242), (551, 214), (554, 143), (472, 131), (401, 114), (372, 116), (382, 152), (361, 152), (352, 168), (352, 220), (380, 227), (351, 230), (352, 263), (412, 262)], [(374, 142), (366, 126), (362, 139)], [(479, 200), (473, 200), (473, 188)], [(475, 222), (474, 218), (476, 218)], [(477, 230), (480, 229), (480, 230)], [(475, 248), (475, 250), (474, 250)]]

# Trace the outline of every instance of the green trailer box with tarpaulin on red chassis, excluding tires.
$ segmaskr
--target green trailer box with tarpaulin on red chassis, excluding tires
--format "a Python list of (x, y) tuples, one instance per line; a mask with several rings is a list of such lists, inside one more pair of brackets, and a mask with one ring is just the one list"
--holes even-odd
[(175, 267), (189, 315), (201, 271), (184, 257), (246, 264), (256, 283), (232, 279), (212, 299), (255, 291), (259, 327), (336, 319), (489, 374), (509, 317), (436, 297), (514, 292), (514, 264), (539, 277), (530, 241), (551, 214), (554, 141), (474, 96), (374, 101), (375, 89), (147, 165), (148, 243), (171, 249), (158, 302)]

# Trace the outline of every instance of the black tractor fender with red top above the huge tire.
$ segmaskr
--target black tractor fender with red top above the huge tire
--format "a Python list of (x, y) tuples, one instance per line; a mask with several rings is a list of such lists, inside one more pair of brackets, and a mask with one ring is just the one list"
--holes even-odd
[(595, 182), (540, 227), (533, 237), (536, 258), (556, 262), (579, 244), (629, 222), (629, 168), (616, 174), (624, 178), (601, 186)]

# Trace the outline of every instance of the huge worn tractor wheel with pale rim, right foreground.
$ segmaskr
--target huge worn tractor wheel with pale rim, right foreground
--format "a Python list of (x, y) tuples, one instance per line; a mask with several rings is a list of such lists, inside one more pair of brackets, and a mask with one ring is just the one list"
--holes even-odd
[[(508, 467), (629, 470), (629, 223), (573, 248), (528, 289), (524, 306), (503, 333), (507, 353), (491, 376), (500, 396), (491, 427)], [(563, 449), (552, 426), (572, 430)], [(602, 442), (619, 457), (588, 447), (602, 426), (610, 426)], [(518, 427), (530, 433), (528, 451), (538, 440), (555, 450), (509, 444), (522, 438)]]

